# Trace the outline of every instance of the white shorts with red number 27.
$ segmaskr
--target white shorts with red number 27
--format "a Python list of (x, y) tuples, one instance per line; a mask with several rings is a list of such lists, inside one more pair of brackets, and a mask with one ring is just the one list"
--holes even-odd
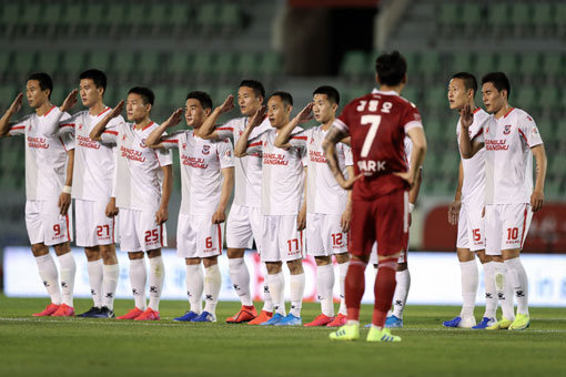
[(104, 212), (108, 202), (74, 200), (77, 246), (92, 247), (115, 242), (115, 217)]

